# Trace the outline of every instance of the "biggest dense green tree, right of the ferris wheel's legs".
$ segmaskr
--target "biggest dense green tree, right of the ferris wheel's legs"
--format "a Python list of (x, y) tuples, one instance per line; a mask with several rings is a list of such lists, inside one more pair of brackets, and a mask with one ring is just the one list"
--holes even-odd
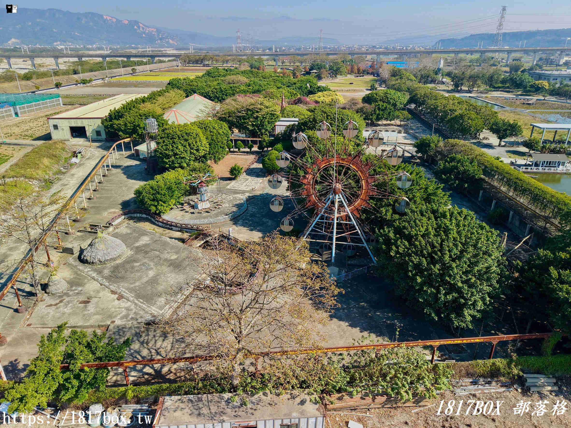
[(456, 206), (411, 208), (377, 232), (379, 272), (429, 319), (471, 328), (501, 292), (497, 233)]

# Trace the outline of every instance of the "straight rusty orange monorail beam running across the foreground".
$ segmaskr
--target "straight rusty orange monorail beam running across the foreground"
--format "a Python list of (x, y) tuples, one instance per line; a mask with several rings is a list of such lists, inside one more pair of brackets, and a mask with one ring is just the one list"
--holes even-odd
[[(300, 350), (271, 351), (260, 354), (248, 354), (246, 358), (260, 358), (260, 357), (269, 357), (269, 356), (286, 356), (286, 355), (329, 353), (329, 352), (353, 352), (353, 351), (368, 350), (368, 349), (412, 348), (415, 346), (432, 346), (433, 349), (436, 350), (436, 347), (439, 345), (469, 344), (469, 343), (480, 343), (480, 342), (492, 342), (494, 344), (492, 350), (494, 350), (496, 348), (497, 342), (508, 341), (508, 340), (545, 339), (550, 336), (553, 336), (553, 333), (507, 334), (504, 336), (464, 337), (459, 339), (436, 339), (436, 340), (424, 340), (424, 341), (419, 340), (413, 342), (387, 342), (387, 343), (372, 344), (372, 345), (351, 345), (351, 346), (335, 346), (332, 348), (312, 348), (312, 349), (300, 349)], [(493, 352), (490, 352), (490, 356), (491, 355), (493, 355)], [(79, 366), (79, 368), (81, 369), (106, 368), (106, 367), (124, 368), (129, 366), (140, 366), (140, 365), (150, 365), (150, 364), (176, 364), (179, 362), (190, 362), (195, 364), (200, 361), (218, 360), (221, 357), (222, 356), (207, 355), (207, 356), (171, 357), (171, 358), (151, 358), (148, 360), (88, 362), (86, 364), (82, 364), (81, 366)], [(62, 364), (59, 366), (59, 368), (61, 370), (69, 370), (69, 364)]]

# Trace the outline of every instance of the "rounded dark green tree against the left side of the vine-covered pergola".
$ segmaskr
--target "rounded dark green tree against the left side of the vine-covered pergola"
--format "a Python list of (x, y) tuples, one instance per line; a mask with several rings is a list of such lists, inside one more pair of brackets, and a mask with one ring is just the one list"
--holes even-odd
[(435, 169), (435, 175), (456, 191), (467, 195), (470, 189), (481, 187), (482, 168), (475, 160), (469, 160), (464, 155), (450, 155), (441, 160)]

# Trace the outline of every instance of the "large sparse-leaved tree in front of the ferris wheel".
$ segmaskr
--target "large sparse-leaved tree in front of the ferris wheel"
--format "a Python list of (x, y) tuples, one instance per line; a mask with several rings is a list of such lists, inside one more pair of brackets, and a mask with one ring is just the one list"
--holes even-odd
[(160, 325), (182, 338), (186, 352), (216, 354), (234, 386), (248, 356), (319, 346), (319, 327), (328, 324), (340, 289), (323, 263), (310, 261), (307, 245), (297, 245), (277, 233), (239, 246), (215, 244), (202, 277), (168, 293), (173, 311)]

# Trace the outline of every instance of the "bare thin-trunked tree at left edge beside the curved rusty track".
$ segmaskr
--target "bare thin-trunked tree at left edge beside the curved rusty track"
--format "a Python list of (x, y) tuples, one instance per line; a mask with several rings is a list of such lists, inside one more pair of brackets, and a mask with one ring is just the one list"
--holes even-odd
[[(36, 295), (40, 292), (37, 252), (50, 227), (57, 229), (59, 222), (66, 221), (66, 201), (59, 193), (46, 197), (37, 189), (22, 188), (10, 200), (0, 202), (0, 241), (13, 238), (26, 244)], [(62, 216), (58, 216), (60, 212)]]

